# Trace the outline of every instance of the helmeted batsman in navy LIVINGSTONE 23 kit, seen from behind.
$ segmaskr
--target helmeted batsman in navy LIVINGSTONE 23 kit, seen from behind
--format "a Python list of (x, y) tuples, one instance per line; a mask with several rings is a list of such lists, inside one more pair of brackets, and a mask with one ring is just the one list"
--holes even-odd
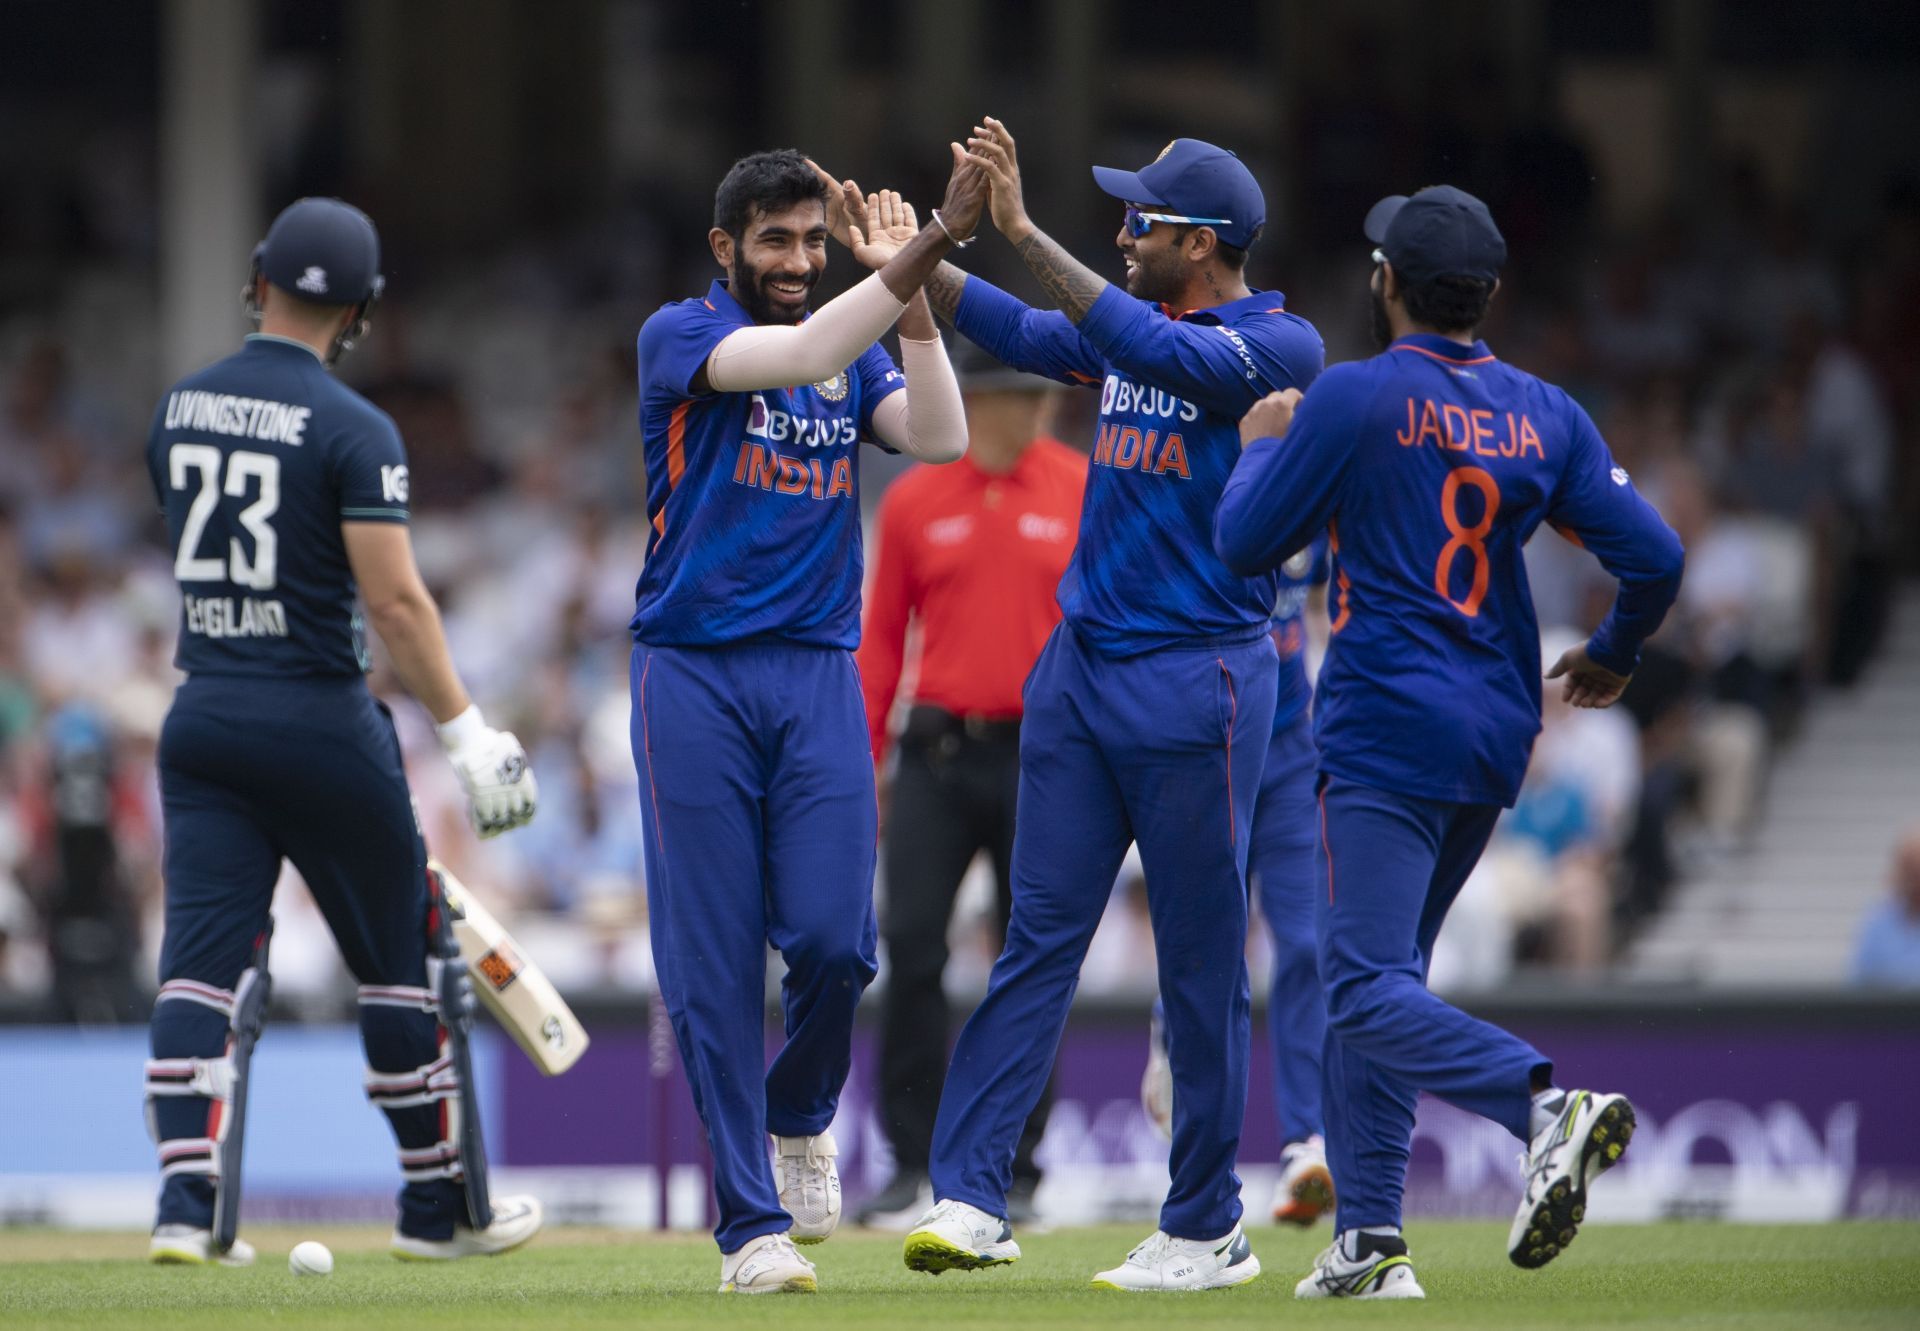
[(359, 597), (440, 722), (480, 835), (532, 818), (526, 755), (461, 688), (415, 569), (399, 434), (328, 373), (382, 286), (365, 213), (292, 204), (253, 252), (244, 300), (259, 332), (175, 384), (148, 436), (186, 672), (159, 736), (165, 937), (146, 1064), (156, 1262), (253, 1258), (236, 1237), (240, 1149), (282, 859), (359, 981), (367, 1097), (388, 1116), (405, 1179), (396, 1256), (503, 1252), (541, 1223), (534, 1198), (486, 1187), (470, 993), (399, 739), (365, 684)]

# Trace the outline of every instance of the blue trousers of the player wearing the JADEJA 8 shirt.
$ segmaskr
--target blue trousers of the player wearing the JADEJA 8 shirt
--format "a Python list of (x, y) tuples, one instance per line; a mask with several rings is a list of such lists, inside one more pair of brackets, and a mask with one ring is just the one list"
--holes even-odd
[(1548, 1058), (1427, 989), (1434, 939), (1500, 809), (1323, 776), (1319, 962), (1327, 985), (1327, 1164), (1338, 1227), (1398, 1225), (1421, 1091), (1526, 1141)]

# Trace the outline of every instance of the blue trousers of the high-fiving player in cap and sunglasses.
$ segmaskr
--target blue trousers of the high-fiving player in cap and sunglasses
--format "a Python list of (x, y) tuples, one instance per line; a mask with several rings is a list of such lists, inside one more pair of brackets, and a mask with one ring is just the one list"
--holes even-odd
[(1025, 688), (1006, 951), (954, 1047), (933, 1129), (935, 1197), (1006, 1214), (1020, 1127), (1139, 841), (1175, 1089), (1160, 1227), (1215, 1239), (1240, 1218), (1246, 853), (1275, 676), (1265, 636), (1114, 661), (1054, 630)]

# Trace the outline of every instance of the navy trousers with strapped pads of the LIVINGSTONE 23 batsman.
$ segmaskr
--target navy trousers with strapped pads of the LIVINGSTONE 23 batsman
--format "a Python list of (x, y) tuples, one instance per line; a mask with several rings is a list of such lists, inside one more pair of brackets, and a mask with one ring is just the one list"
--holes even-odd
[[(182, 1095), (227, 1049), (232, 989), (267, 926), (280, 859), (313, 891), (359, 981), (367, 1093), (399, 1149), (399, 1227), (447, 1239), (467, 1214), (449, 1158), (440, 1022), (426, 1003), (426, 845), (394, 722), (357, 678), (194, 676), (159, 732), (165, 935), (148, 1064), (159, 1223), (207, 1227), (221, 1108)], [(273, 1033), (265, 1035), (273, 1039)], [(432, 1085), (428, 1085), (432, 1081)]]

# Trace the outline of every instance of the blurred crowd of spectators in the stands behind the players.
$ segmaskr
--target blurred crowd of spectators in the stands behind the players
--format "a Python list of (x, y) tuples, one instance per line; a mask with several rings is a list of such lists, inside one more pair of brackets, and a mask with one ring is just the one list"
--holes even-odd
[[(1793, 182), (1722, 156), (1697, 207), (1622, 230), (1605, 173), (1551, 115), (1480, 133), (1471, 106), (1446, 119), (1325, 98), (1302, 125), (1296, 181), (1313, 206), (1256, 248), (1254, 284), (1286, 292), (1327, 336), (1329, 363), (1363, 355), (1365, 202), (1442, 177), (1476, 188), (1513, 248), (1486, 340), (1592, 411), (1688, 545), (1682, 601), (1626, 705), (1549, 703), (1528, 789), (1455, 908), (1434, 980), (1603, 974), (1678, 878), (1741, 845), (1809, 697), (1868, 666), (1914, 559), (1920, 182), (1885, 181), (1872, 209), (1836, 223)], [(1311, 150), (1327, 142), (1342, 152)], [(69, 271), (0, 317), (0, 997), (102, 1022), (138, 1020), (152, 976), (154, 739), (177, 682), (171, 569), (132, 461), (161, 384), (154, 302), (129, 298), (152, 290), (154, 236), (138, 219), (156, 209), (150, 173), (127, 156), (104, 134), (44, 215), (0, 209), (17, 252), (58, 230)], [(1354, 179), (1354, 161), (1379, 167)], [(288, 184), (311, 177), (351, 198), (324, 163), (305, 171)], [(1033, 194), (1075, 252), (1108, 254), (1117, 213), (1083, 181)], [(415, 280), (401, 263), (342, 367), (399, 423), (415, 542), (453, 653), (541, 780), (540, 818), (480, 845), (424, 714), (397, 705), (428, 841), (570, 989), (645, 989), (651, 976), (626, 697), (645, 557), (632, 338), (708, 277), (689, 248), (703, 223), (685, 215), (685, 234), (668, 236), (636, 200), (459, 271), (420, 265)], [(831, 261), (829, 280), (852, 269), (845, 254)], [(1054, 434), (1077, 448), (1083, 398), (1056, 405)], [(899, 461), (864, 463), (872, 517)], [(1609, 593), (1594, 563), (1544, 532), (1528, 569), (1548, 636), (1584, 636)], [(374, 684), (394, 697), (388, 676)], [(983, 985), (993, 960), (985, 889), (975, 899), (950, 972), (960, 989)], [(313, 908), (288, 889), (278, 910)], [(1150, 945), (1123, 876), (1083, 991), (1133, 993)], [(349, 995), (319, 928), (282, 928), (275, 970), (278, 991), (317, 1012)]]

